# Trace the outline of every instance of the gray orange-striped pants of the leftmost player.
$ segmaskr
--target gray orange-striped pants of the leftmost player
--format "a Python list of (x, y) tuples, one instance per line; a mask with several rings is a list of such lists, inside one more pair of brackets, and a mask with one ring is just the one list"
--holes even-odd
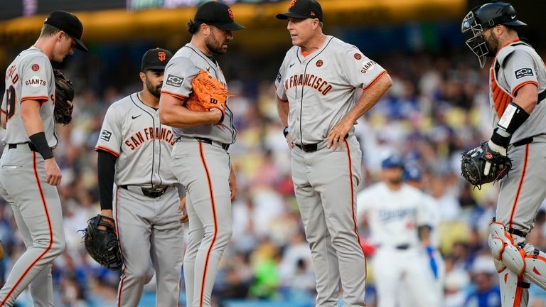
[(34, 306), (53, 306), (51, 263), (65, 250), (57, 188), (45, 183), (43, 158), (28, 146), (6, 146), (0, 165), (0, 193), (14, 210), (26, 246), (0, 290), (0, 306), (13, 306), (28, 286)]

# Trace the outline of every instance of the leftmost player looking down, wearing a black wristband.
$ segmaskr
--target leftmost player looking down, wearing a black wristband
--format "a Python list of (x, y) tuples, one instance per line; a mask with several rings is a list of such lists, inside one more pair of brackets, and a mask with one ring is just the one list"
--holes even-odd
[(30, 285), (34, 306), (53, 306), (51, 263), (65, 249), (63, 214), (55, 185), (60, 169), (53, 104), (55, 77), (50, 61), (62, 62), (80, 41), (83, 26), (73, 14), (53, 11), (38, 41), (6, 70), (2, 126), (6, 129), (0, 160), (0, 195), (11, 205), (26, 252), (14, 264), (0, 290), (0, 306), (13, 306)]

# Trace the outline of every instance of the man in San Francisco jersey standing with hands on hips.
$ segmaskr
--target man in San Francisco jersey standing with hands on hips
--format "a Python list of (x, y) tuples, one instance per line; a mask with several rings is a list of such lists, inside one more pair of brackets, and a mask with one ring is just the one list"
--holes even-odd
[(316, 272), (316, 306), (336, 305), (340, 279), (345, 306), (364, 306), (366, 264), (355, 220), (362, 152), (353, 126), (392, 81), (358, 48), (322, 33), (319, 2), (293, 0), (277, 18), (288, 21), (294, 45), (275, 86)]

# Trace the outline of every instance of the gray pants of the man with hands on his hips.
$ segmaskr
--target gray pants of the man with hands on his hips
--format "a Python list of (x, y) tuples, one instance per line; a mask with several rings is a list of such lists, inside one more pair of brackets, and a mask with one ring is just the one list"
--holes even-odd
[(291, 151), (292, 179), (316, 272), (316, 306), (365, 306), (366, 262), (355, 220), (362, 153), (355, 136), (343, 149)]

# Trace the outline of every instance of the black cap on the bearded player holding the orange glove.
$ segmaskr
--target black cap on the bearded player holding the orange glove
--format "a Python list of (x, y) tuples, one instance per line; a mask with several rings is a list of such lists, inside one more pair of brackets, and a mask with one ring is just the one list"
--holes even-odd
[(206, 23), (223, 30), (240, 30), (245, 28), (233, 20), (232, 9), (222, 2), (208, 1), (198, 6), (195, 18), (196, 23)]

